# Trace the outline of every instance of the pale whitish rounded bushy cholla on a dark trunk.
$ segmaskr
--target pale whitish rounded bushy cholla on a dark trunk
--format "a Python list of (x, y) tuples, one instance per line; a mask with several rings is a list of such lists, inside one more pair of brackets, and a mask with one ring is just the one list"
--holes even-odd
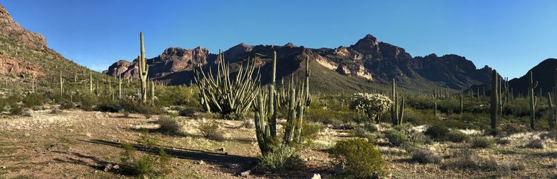
[(393, 101), (382, 94), (356, 93), (352, 96), (350, 108), (362, 114), (368, 119), (379, 123), (382, 114), (389, 110)]

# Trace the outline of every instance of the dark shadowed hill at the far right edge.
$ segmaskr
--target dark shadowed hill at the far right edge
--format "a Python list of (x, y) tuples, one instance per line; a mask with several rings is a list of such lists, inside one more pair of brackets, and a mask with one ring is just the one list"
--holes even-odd
[[(555, 76), (556, 69), (557, 59), (548, 58), (528, 70), (532, 71), (534, 83), (535, 81), (538, 81), (538, 87), (534, 89), (536, 95), (540, 93), (540, 89), (542, 90), (543, 95), (546, 95), (547, 92), (553, 92), (553, 87), (555, 86), (554, 79), (557, 78), (557, 76)], [(526, 73), (520, 78), (509, 80), (509, 87), (512, 87), (512, 91), (515, 94), (526, 95), (528, 94), (528, 83), (528, 73)]]

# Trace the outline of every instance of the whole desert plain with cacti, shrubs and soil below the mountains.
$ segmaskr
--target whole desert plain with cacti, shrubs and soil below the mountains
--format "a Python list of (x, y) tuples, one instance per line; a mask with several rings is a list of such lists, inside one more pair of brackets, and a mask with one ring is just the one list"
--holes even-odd
[(196, 67), (192, 85), (171, 86), (149, 80), (140, 38), (139, 78), (77, 68), (26, 76), (31, 83), (4, 79), (0, 175), (557, 176), (557, 101), (554, 93), (535, 93), (532, 72), (526, 95), (513, 93), (496, 70), (481, 93), (440, 86), (416, 92), (393, 80), (334, 94), (313, 85), (311, 56), (300, 63), (304, 78), (276, 79), (274, 52), (265, 84), (258, 57), (232, 70), (219, 53), (216, 68)]

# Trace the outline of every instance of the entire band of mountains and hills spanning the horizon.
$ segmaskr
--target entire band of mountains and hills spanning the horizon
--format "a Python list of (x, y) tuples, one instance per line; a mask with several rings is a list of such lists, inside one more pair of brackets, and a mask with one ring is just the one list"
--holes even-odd
[[(22, 28), (8, 11), (0, 6), (0, 78), (14, 82), (29, 82), (34, 78), (58, 76), (88, 77), (91, 69), (83, 67), (49, 49), (45, 37)], [(139, 49), (138, 49), (139, 51)], [(379, 42), (372, 35), (365, 35), (350, 46), (334, 49), (311, 49), (292, 43), (285, 45), (238, 44), (223, 51), (224, 61), (237, 71), (248, 59), (256, 61), (262, 73), (262, 83), (269, 83), (273, 51), (277, 53), (277, 78), (304, 75), (306, 57), (312, 70), (312, 90), (322, 92), (354, 92), (370, 89), (386, 89), (392, 79), (408, 90), (430, 90), (435, 86), (454, 90), (478, 85), (489, 85), (492, 69), (487, 65), (478, 69), (463, 56), (448, 54), (437, 56), (411, 56), (405, 49), (386, 42)], [(147, 60), (149, 78), (170, 85), (189, 84), (193, 80), (193, 69), (203, 67), (216, 69), (217, 54), (208, 49), (182, 49), (170, 47), (159, 56)], [(533, 78), (539, 82), (538, 89), (550, 92), (555, 85), (553, 78), (557, 68), (556, 59), (547, 59), (533, 67)], [(208, 70), (206, 70), (208, 71)], [(136, 60), (119, 60), (104, 74), (137, 78)], [(95, 73), (93, 76), (102, 77)], [(526, 91), (527, 76), (509, 81), (515, 93)], [(522, 92), (522, 93), (524, 93)]]

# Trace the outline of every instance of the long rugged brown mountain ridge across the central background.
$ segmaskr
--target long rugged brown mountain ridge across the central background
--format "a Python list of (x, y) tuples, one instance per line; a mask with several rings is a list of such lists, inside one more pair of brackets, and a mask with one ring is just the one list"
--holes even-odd
[[(412, 57), (399, 46), (379, 42), (366, 35), (355, 44), (336, 49), (309, 49), (288, 43), (283, 46), (238, 44), (224, 51), (225, 60), (238, 65), (247, 58), (257, 57), (262, 69), (262, 82), (269, 80), (267, 62), (277, 52), (277, 78), (301, 77), (306, 56), (311, 60), (315, 89), (323, 92), (362, 91), (382, 89), (393, 78), (406, 89), (432, 89), (434, 86), (465, 89), (488, 83), (491, 68), (477, 69), (470, 60), (457, 55)], [(197, 65), (214, 68), (217, 55), (208, 49), (181, 49), (171, 47), (161, 55), (148, 60), (150, 78), (173, 85), (187, 84), (192, 69)], [(104, 71), (110, 76), (137, 77), (136, 62), (120, 60)], [(317, 76), (317, 74), (320, 74)]]

